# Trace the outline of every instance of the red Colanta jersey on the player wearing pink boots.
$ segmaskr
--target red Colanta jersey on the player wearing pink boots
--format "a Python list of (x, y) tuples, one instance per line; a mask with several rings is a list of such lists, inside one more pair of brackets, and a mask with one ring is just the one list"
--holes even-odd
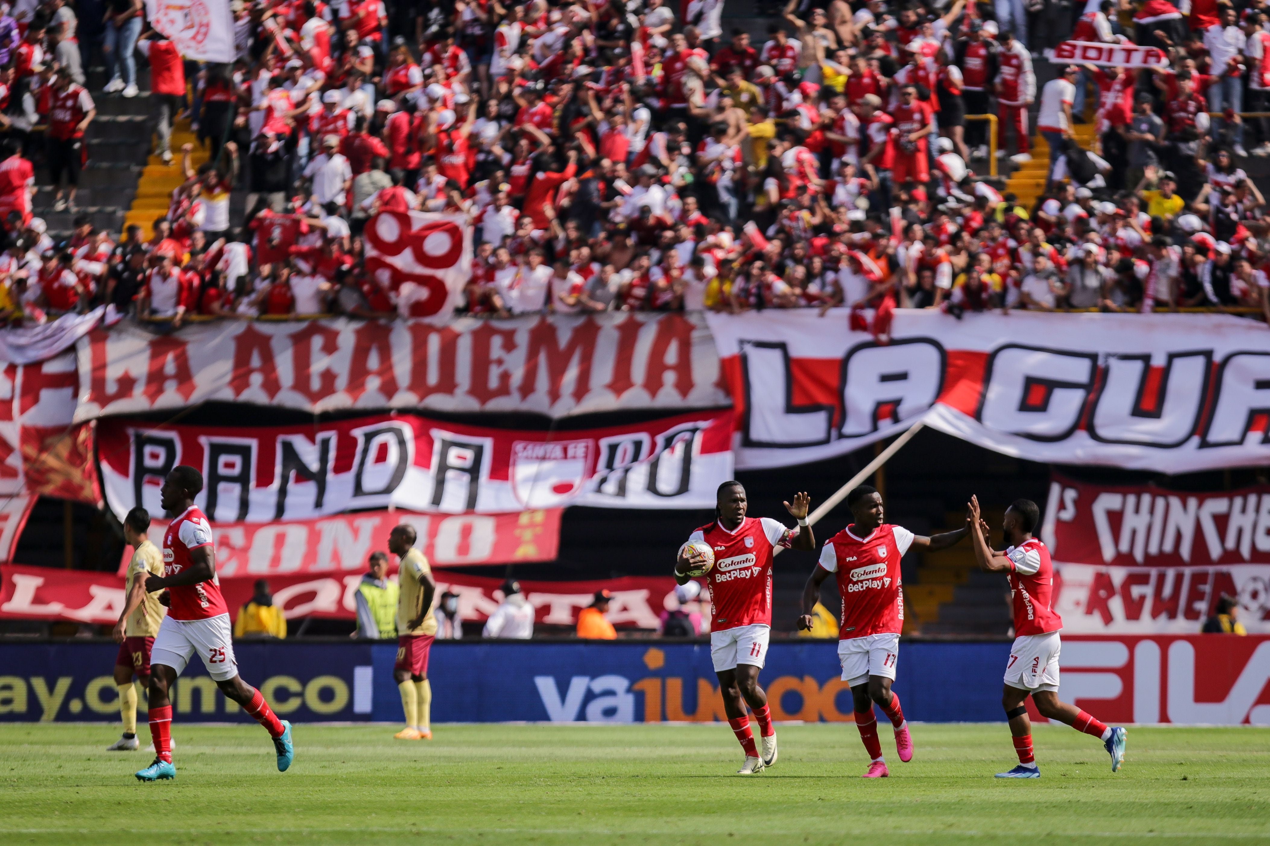
[(820, 550), (820, 567), (834, 573), (842, 596), (838, 639), (899, 634), (904, 628), (904, 591), (899, 559), (913, 545), (913, 533), (884, 523), (866, 538), (847, 526)]

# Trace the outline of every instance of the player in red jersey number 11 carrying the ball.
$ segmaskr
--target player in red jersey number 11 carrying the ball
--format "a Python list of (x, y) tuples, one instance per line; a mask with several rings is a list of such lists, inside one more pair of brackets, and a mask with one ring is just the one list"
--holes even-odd
[[(776, 764), (776, 729), (767, 694), (758, 686), (758, 671), (767, 658), (767, 638), (772, 629), (772, 550), (789, 547), (812, 552), (815, 538), (806, 523), (812, 498), (795, 493), (794, 504), (785, 509), (794, 516), (798, 529), (787, 529), (770, 517), (745, 516), (745, 488), (740, 482), (719, 486), (715, 521), (701, 526), (688, 542), (709, 543), (715, 564), (706, 573), (710, 591), (710, 660), (719, 676), (719, 693), (728, 724), (745, 751), (745, 764), (737, 775), (753, 775)], [(686, 585), (687, 573), (705, 562), (700, 553), (685, 556), (681, 550), (674, 564), (674, 581)], [(745, 705), (754, 712), (763, 751), (754, 746)]]

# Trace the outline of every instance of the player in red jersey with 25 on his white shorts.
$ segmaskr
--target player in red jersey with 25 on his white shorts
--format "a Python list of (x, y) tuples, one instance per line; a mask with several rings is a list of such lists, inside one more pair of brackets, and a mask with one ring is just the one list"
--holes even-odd
[(169, 610), (150, 651), (150, 734), (155, 743), (154, 764), (137, 772), (141, 781), (175, 779), (171, 762), (171, 700), (168, 689), (196, 652), (207, 675), (229, 699), (255, 718), (273, 738), (278, 770), (295, 758), (291, 723), (279, 720), (260, 691), (244, 682), (234, 660), (230, 610), (216, 576), (212, 528), (194, 505), (203, 490), (203, 474), (193, 467), (174, 467), (159, 491), (164, 511), (175, 515), (163, 539), (163, 576), (146, 578), (146, 591), (168, 590)]

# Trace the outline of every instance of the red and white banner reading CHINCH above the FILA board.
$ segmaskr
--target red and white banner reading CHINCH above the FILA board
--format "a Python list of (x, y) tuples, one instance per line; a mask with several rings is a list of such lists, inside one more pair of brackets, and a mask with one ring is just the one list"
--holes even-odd
[(1054, 476), (1041, 525), (1064, 632), (1198, 632), (1222, 595), (1270, 633), (1270, 486), (1191, 493)]

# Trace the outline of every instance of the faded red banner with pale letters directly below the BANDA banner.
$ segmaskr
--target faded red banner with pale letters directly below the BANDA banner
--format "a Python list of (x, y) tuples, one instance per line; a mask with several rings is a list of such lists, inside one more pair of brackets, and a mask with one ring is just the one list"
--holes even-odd
[[(560, 509), (453, 515), (359, 511), (290, 523), (216, 523), (216, 572), (226, 578), (364, 572), (372, 552), (389, 550), (389, 533), (400, 524), (414, 526), (414, 545), (437, 567), (555, 561), (560, 549)], [(152, 521), (150, 537), (161, 538), (166, 528), (166, 520)], [(117, 575), (127, 572), (131, 558), (132, 549), (124, 548)]]

